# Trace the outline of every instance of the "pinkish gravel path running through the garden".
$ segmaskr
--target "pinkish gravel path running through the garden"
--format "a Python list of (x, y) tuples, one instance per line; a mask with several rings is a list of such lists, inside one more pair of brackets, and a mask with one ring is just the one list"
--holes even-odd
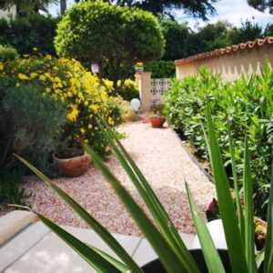
[[(215, 189), (188, 156), (176, 134), (170, 128), (155, 129), (140, 122), (121, 126), (120, 131), (126, 133), (127, 137), (123, 140), (123, 144), (146, 175), (177, 228), (181, 232), (194, 232), (183, 181), (187, 180), (197, 204), (203, 210), (215, 196)], [(111, 157), (107, 165), (136, 198), (136, 201), (144, 207), (116, 158)], [(127, 235), (140, 234), (112, 188), (94, 167), (90, 167), (85, 176), (59, 178), (55, 181), (111, 232)], [(85, 223), (81, 222), (37, 178), (28, 177), (25, 187), (33, 194), (29, 198), (29, 203), (36, 211), (50, 217), (58, 224), (86, 227)]]

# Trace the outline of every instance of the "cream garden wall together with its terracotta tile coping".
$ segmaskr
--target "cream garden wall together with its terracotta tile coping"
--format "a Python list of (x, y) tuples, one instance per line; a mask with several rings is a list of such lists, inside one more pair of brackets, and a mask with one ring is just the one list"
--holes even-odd
[(213, 73), (221, 73), (226, 81), (239, 76), (260, 73), (266, 60), (273, 64), (273, 37), (257, 39), (239, 45), (227, 46), (211, 52), (190, 56), (175, 62), (177, 79), (197, 74), (200, 66), (207, 66)]

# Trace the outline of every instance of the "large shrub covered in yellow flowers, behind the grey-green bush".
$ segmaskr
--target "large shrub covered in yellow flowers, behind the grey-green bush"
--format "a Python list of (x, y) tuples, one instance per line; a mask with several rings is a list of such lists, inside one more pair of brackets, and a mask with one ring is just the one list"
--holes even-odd
[(98, 152), (105, 152), (107, 143), (97, 116), (104, 117), (110, 126), (120, 120), (119, 108), (110, 96), (109, 81), (102, 85), (76, 60), (52, 56), (25, 56), (0, 63), (0, 67), (0, 81), (4, 86), (42, 86), (42, 96), (66, 103), (67, 122), (62, 141), (67, 146), (74, 146), (81, 138)]

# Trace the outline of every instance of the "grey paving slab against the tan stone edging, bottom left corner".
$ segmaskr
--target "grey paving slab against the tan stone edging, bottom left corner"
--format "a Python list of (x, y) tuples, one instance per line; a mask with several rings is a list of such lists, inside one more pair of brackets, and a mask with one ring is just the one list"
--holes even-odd
[(32, 248), (39, 240), (49, 233), (42, 223), (35, 223), (18, 233), (0, 248), (0, 272), (20, 258)]

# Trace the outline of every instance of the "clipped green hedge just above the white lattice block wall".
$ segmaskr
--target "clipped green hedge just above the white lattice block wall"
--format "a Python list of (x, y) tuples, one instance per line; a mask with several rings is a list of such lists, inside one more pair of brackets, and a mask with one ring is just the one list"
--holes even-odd
[(153, 77), (175, 77), (176, 66), (174, 61), (154, 61), (145, 65), (145, 71), (151, 72)]

